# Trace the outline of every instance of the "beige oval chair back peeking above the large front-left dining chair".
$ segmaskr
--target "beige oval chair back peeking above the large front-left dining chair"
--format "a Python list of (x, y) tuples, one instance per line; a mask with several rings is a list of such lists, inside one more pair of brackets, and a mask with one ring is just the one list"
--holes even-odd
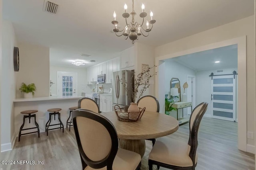
[(90, 98), (80, 98), (78, 100), (78, 109), (87, 109), (95, 113), (100, 113), (98, 104)]

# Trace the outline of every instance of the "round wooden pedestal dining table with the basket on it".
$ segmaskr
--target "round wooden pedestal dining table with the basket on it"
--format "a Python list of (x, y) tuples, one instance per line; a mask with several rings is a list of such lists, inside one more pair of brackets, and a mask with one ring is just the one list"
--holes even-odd
[(135, 122), (119, 121), (114, 111), (101, 114), (116, 128), (119, 147), (136, 152), (141, 157), (146, 150), (145, 139), (170, 135), (179, 128), (178, 121), (164, 113), (145, 111), (141, 119)]

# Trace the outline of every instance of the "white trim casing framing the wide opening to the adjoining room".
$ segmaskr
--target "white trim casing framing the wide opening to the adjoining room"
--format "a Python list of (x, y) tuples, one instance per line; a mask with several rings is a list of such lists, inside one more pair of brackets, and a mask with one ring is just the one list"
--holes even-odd
[[(229, 39), (226, 41), (221, 41), (218, 43), (213, 43), (213, 44), (205, 45), (202, 47), (196, 47), (193, 49), (188, 49), (188, 50), (180, 51), (177, 53), (171, 53), (169, 55), (156, 57), (155, 61), (156, 61), (156, 64), (158, 65), (158, 68), (156, 68), (156, 71), (159, 72), (158, 75), (164, 74), (166, 76), (165, 72), (162, 72), (163, 70), (165, 70), (164, 68), (166, 67), (166, 62), (164, 62), (164, 60), (166, 59), (171, 59), (174, 57), (189, 55), (192, 53), (198, 53), (200, 51), (216, 49), (216, 48), (225, 47), (229, 45), (237, 45), (237, 61), (238, 61), (237, 72), (240, 75), (238, 79), (238, 84), (242, 84), (242, 86), (238, 86), (237, 88), (237, 94), (239, 95), (239, 98), (237, 98), (237, 103), (239, 104), (239, 106), (237, 107), (238, 149), (247, 151), (247, 136), (246, 136), (247, 134), (247, 121), (246, 121), (247, 111), (246, 110), (247, 109), (246, 109), (246, 88), (244, 88), (246, 87), (246, 36)], [(209, 74), (210, 73), (206, 75), (208, 78), (209, 78)], [(156, 75), (156, 80), (158, 80), (158, 82), (156, 82), (156, 85), (155, 85), (155, 94), (156, 94), (156, 97), (159, 98), (160, 112), (164, 113), (164, 96), (166, 93), (164, 91), (165, 90), (164, 87), (166, 86), (160, 83), (160, 79), (159, 79), (160, 76), (158, 75)], [(198, 84), (210, 84), (210, 80), (208, 80), (208, 83), (206, 83), (205, 81), (202, 82), (202, 81), (198, 81), (197, 79), (196, 86), (198, 86)], [(196, 91), (198, 91), (198, 89), (196, 89)], [(204, 93), (204, 89), (200, 89), (200, 91), (201, 93)], [(207, 98), (209, 99), (210, 97), (211, 96), (207, 96), (206, 100)], [(196, 100), (198, 100), (198, 96), (196, 96)]]

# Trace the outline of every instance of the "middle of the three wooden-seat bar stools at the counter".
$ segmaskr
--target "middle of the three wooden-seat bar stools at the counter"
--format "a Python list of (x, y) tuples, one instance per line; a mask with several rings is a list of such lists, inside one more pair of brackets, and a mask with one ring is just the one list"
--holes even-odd
[[(60, 108), (53, 108), (53, 109), (48, 109), (47, 111), (49, 111), (49, 120), (47, 121), (47, 123), (45, 125), (45, 131), (46, 131), (47, 136), (48, 136), (48, 131), (54, 130), (54, 129), (61, 129), (62, 128), (62, 133), (64, 133), (64, 125), (63, 125), (62, 121), (60, 120), (60, 112), (59, 111), (61, 111), (61, 109)], [(50, 123), (52, 121), (52, 115), (54, 115), (54, 120), (55, 120), (55, 115), (56, 114), (58, 115), (58, 119), (59, 119), (60, 123), (50, 125)], [(49, 126), (54, 126), (54, 125), (60, 125), (60, 127), (49, 129)]]

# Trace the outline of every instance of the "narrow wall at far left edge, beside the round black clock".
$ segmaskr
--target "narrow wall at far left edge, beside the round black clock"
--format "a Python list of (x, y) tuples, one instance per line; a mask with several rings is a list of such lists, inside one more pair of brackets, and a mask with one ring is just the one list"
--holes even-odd
[(1, 121), (1, 151), (10, 150), (12, 148), (12, 139), (14, 137), (14, 105), (16, 72), (13, 66), (13, 50), (17, 46), (14, 28), (10, 21), (2, 20), (2, 83), (1, 98), (2, 105), (2, 121)]

